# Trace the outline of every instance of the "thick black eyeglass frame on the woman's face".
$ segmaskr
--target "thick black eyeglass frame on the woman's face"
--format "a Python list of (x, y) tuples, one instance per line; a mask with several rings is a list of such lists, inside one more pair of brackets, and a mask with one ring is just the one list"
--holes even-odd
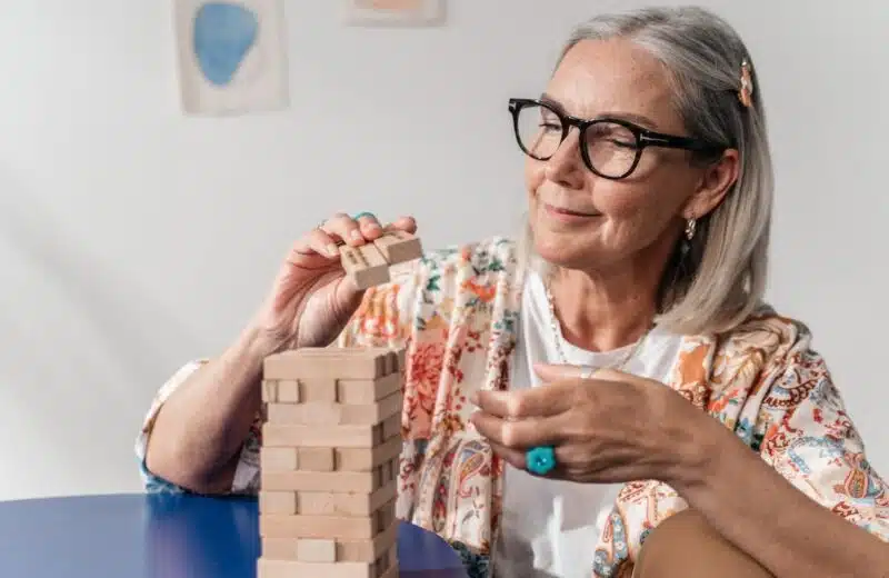
[(602, 172), (597, 170), (592, 166), (592, 160), (590, 160), (588, 148), (586, 146), (578, 147), (580, 149), (580, 157), (583, 159), (583, 165), (586, 165), (590, 171), (592, 171), (593, 173), (598, 175), (603, 179), (620, 180), (620, 179), (626, 179), (627, 177), (632, 175), (632, 172), (639, 166), (639, 160), (642, 158), (642, 152), (648, 147), (663, 147), (669, 149), (683, 149), (692, 152), (710, 152), (710, 153), (717, 153), (717, 152), (721, 153), (729, 148), (725, 144), (717, 144), (702, 139), (696, 139), (692, 137), (678, 137), (676, 134), (666, 134), (663, 132), (657, 132), (640, 127), (639, 124), (636, 124), (635, 122), (630, 122), (629, 120), (622, 118), (597, 117), (595, 119), (581, 119), (578, 117), (572, 117), (571, 114), (566, 114), (553, 104), (546, 102), (543, 100), (531, 99), (531, 98), (511, 98), (509, 99), (509, 112), (512, 116), (512, 130), (516, 134), (516, 142), (518, 142), (519, 148), (522, 150), (522, 152), (525, 152), (526, 155), (536, 160), (542, 160), (542, 161), (549, 160), (552, 158), (553, 155), (556, 155), (556, 152), (553, 152), (549, 157), (542, 158), (536, 155), (531, 155), (528, 151), (528, 149), (525, 148), (525, 144), (522, 144), (521, 136), (519, 134), (519, 113), (523, 108), (529, 106), (543, 107), (550, 112), (552, 112), (559, 119), (562, 126), (562, 136), (561, 139), (559, 140), (559, 147), (561, 147), (562, 142), (565, 142), (565, 139), (568, 138), (568, 133), (571, 130), (571, 127), (576, 127), (578, 129), (578, 140), (581, 143), (583, 142), (583, 137), (587, 132), (587, 129), (595, 124), (610, 122), (615, 124), (620, 124), (621, 127), (629, 130), (636, 138), (636, 148), (635, 148), (636, 158), (633, 159), (632, 165), (630, 165), (630, 168), (619, 177), (603, 175)]

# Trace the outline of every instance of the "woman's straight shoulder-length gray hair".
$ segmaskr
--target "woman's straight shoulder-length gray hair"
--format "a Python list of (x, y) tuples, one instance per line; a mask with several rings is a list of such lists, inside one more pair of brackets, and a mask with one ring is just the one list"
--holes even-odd
[[(730, 330), (761, 306), (768, 269), (773, 175), (753, 61), (725, 20), (701, 8), (679, 7), (595, 17), (573, 30), (559, 62), (580, 41), (610, 38), (626, 38), (662, 62), (691, 136), (728, 143), (739, 152), (739, 176), (731, 190), (698, 220), (693, 239), (685, 250), (678, 247), (668, 265), (656, 319), (685, 335)], [(753, 78), (750, 108), (738, 98), (745, 60)], [(526, 227), (522, 260), (548, 271), (550, 266), (532, 247)]]

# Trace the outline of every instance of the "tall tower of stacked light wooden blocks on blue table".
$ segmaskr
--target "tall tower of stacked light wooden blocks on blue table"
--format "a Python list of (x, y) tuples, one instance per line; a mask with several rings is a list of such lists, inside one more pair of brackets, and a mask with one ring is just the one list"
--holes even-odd
[(397, 578), (403, 350), (266, 359), (258, 578)]

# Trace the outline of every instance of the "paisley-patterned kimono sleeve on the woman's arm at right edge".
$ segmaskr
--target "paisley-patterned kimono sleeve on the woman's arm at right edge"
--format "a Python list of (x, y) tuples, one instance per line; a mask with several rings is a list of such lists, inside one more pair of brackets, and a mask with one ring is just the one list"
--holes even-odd
[(889, 542), (889, 487), (868, 461), (819, 355), (788, 357), (759, 417), (768, 464), (815, 501)]

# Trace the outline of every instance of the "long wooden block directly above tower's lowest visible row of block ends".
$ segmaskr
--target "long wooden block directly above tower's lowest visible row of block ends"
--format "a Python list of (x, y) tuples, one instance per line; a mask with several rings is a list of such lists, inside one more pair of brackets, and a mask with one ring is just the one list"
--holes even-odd
[(259, 517), (259, 535), (263, 538), (370, 539), (380, 534), (379, 519), (377, 515), (338, 517), (267, 514)]

